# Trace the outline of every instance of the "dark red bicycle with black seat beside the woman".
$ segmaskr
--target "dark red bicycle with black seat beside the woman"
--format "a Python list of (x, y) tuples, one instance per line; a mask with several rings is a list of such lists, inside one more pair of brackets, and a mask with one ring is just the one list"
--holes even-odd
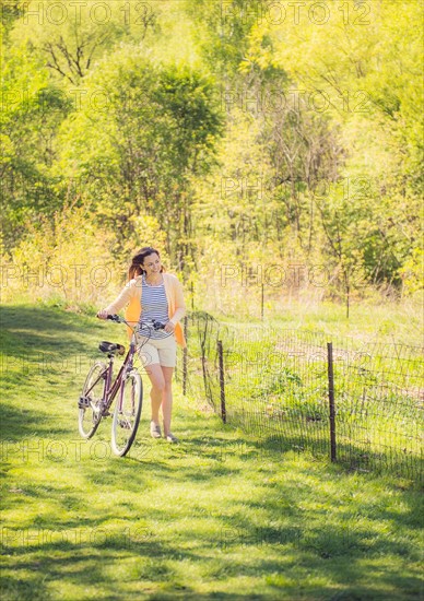
[(79, 406), (79, 431), (83, 438), (92, 438), (96, 433), (102, 419), (110, 415), (111, 404), (117, 397), (111, 421), (111, 448), (116, 455), (123, 457), (129, 451), (140, 423), (141, 408), (143, 403), (143, 382), (137, 368), (133, 366), (133, 358), (138, 350), (148, 342), (137, 347), (137, 333), (146, 328), (151, 332), (164, 329), (165, 325), (160, 321), (152, 321), (150, 326), (142, 322), (138, 328), (133, 328), (119, 315), (108, 315), (107, 319), (116, 323), (126, 323), (131, 330), (131, 341), (118, 375), (114, 377), (115, 355), (123, 355), (125, 346), (113, 342), (103, 341), (98, 349), (107, 353), (109, 362), (96, 361), (89, 370), (82, 388), (81, 397), (78, 401)]

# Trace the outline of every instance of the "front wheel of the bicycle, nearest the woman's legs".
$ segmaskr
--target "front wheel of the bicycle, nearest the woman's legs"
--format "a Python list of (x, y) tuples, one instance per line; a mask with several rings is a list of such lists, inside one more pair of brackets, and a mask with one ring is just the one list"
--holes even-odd
[(143, 385), (140, 374), (133, 370), (122, 381), (111, 423), (111, 448), (120, 457), (127, 455), (136, 438), (142, 402)]

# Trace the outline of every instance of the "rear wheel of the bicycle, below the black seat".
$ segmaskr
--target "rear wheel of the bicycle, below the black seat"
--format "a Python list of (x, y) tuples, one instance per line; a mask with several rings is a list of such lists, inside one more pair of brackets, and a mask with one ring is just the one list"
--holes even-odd
[(106, 374), (106, 364), (102, 361), (96, 361), (85, 378), (81, 400), (86, 406), (80, 406), (78, 415), (78, 428), (83, 438), (91, 438), (101, 423), (99, 404), (104, 398)]

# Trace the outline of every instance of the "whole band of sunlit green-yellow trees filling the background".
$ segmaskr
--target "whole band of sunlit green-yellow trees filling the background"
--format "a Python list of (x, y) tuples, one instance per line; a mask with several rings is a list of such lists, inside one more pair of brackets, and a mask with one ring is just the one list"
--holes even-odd
[(4, 2), (5, 251), (72, 204), (114, 260), (153, 238), (226, 314), (245, 290), (217, 290), (225, 264), (325, 266), (325, 286), (285, 280), (271, 305), (417, 294), (420, 3), (348, 0), (321, 24), (313, 0), (297, 9)]

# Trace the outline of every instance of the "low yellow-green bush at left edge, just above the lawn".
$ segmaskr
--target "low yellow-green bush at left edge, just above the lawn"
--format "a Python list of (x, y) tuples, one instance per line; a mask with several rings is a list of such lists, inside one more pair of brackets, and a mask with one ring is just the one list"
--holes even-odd
[(25, 237), (2, 257), (3, 299), (24, 292), (34, 302), (76, 310), (101, 305), (106, 288), (121, 285), (122, 264), (113, 257), (114, 243), (111, 234), (98, 235), (86, 207), (67, 205), (52, 221), (27, 224)]

